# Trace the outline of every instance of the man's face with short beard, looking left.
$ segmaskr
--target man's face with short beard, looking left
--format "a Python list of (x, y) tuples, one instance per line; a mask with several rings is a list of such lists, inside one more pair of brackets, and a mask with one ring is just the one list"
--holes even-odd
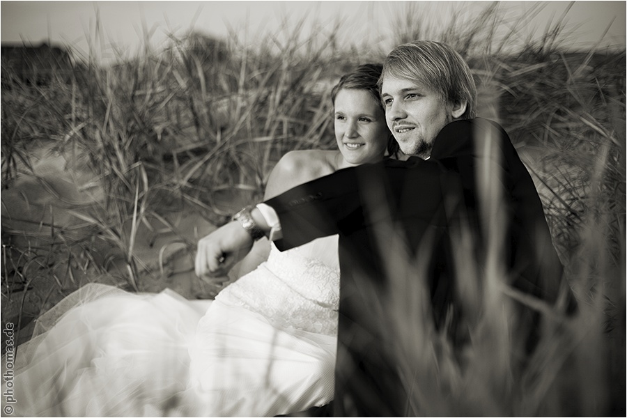
[(401, 151), (423, 159), (431, 155), (433, 141), (442, 127), (458, 117), (454, 106), (433, 88), (408, 79), (383, 77), (381, 100), (387, 127)]

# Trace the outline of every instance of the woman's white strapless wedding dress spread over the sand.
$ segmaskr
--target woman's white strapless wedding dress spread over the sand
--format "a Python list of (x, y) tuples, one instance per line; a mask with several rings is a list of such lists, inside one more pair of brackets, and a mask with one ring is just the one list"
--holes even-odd
[(338, 304), (336, 236), (272, 245), (213, 301), (84, 286), (18, 348), (13, 416), (261, 417), (323, 405)]

